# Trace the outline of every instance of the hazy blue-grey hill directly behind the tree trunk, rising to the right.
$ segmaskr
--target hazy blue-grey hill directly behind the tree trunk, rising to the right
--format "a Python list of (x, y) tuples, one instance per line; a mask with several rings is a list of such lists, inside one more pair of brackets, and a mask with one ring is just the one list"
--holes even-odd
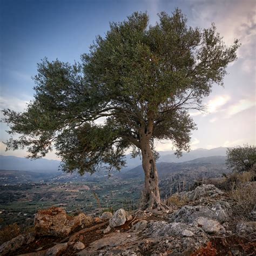
[[(223, 176), (223, 173), (229, 173), (230, 170), (227, 169), (225, 160), (224, 156), (211, 156), (183, 163), (157, 163), (161, 196), (166, 197), (177, 191), (189, 190), (197, 181), (218, 178)], [(121, 172), (119, 176), (126, 180), (144, 180), (142, 165)]]

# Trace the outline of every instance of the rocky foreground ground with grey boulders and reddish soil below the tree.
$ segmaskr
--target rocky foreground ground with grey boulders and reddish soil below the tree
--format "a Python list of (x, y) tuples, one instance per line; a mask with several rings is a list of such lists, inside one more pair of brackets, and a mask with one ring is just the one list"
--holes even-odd
[[(256, 182), (247, 184), (256, 190)], [(1, 255), (255, 255), (256, 208), (238, 218), (235, 201), (213, 185), (176, 195), (166, 212), (119, 209), (99, 218), (63, 208), (38, 211), (35, 232), (0, 247)], [(256, 202), (255, 202), (256, 203)]]

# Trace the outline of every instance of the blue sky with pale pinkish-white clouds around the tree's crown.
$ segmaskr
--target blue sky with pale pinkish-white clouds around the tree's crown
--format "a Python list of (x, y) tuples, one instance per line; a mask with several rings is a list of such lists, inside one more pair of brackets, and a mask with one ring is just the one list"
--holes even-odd
[[(213, 86), (204, 99), (206, 113), (191, 111), (197, 130), (191, 149), (254, 144), (256, 140), (256, 1), (254, 0), (0, 0), (0, 109), (23, 111), (33, 99), (32, 76), (47, 57), (73, 63), (89, 51), (109, 22), (121, 22), (134, 11), (147, 11), (150, 24), (157, 14), (180, 8), (188, 25), (208, 28), (214, 22), (227, 45), (238, 38), (238, 60), (228, 66), (224, 87)], [(8, 139), (0, 124), (0, 154), (26, 156), (23, 150), (5, 152)], [(172, 150), (170, 142), (157, 150)], [(46, 158), (57, 159), (54, 152)]]

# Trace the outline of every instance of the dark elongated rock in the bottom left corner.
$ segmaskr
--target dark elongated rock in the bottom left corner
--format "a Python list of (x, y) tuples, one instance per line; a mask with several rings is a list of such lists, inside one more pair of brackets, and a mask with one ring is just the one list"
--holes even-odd
[(0, 255), (6, 255), (35, 240), (35, 233), (21, 234), (0, 246)]

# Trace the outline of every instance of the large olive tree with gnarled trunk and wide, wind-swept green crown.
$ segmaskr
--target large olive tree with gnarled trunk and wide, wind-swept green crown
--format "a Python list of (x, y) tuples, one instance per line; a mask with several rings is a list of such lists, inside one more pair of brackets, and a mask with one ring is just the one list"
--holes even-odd
[(189, 150), (196, 126), (188, 110), (202, 110), (212, 85), (223, 84), (239, 43), (225, 46), (214, 25), (188, 27), (178, 9), (159, 18), (149, 26), (149, 17), (135, 12), (111, 23), (81, 64), (38, 64), (33, 102), (24, 113), (3, 111), (9, 133), (21, 134), (6, 142), (7, 149), (26, 147), (30, 158), (38, 158), (54, 145), (63, 170), (83, 174), (102, 163), (120, 170), (132, 147), (145, 173), (142, 208), (164, 208), (153, 143), (169, 139), (178, 155)]

